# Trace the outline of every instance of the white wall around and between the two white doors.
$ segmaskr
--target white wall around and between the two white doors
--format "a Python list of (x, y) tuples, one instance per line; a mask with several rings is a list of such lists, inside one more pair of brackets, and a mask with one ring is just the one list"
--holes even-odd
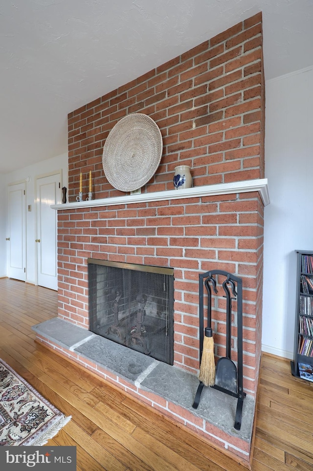
[[(62, 170), (61, 188), (62, 186), (67, 187), (67, 160), (67, 153), (65, 153), (4, 175), (5, 193), (7, 192), (7, 185), (10, 183), (21, 180), (25, 181), (26, 177), (30, 177), (30, 181), (26, 181), (26, 281), (29, 283), (35, 283), (36, 280), (36, 177)], [(27, 211), (29, 204), (31, 205), (31, 211)], [(1, 214), (0, 221), (3, 221)], [(4, 221), (6, 221), (6, 215), (4, 216)], [(1, 268), (3, 269), (0, 265), (0, 273)], [(5, 274), (6, 273), (5, 263)]]

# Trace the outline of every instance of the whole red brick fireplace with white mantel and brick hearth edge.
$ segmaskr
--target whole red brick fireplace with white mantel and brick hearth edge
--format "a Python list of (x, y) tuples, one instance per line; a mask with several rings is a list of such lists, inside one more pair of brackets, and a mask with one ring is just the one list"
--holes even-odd
[[(179, 369), (199, 370), (199, 274), (221, 269), (242, 277), (244, 389), (253, 398), (261, 358), (263, 209), (268, 202), (263, 192), (264, 93), (260, 13), (70, 113), (69, 203), (57, 208), (58, 317), (89, 328), (88, 258), (173, 268), (174, 366)], [(134, 112), (153, 118), (163, 138), (160, 165), (137, 197), (112, 188), (102, 167), (110, 130)], [(188, 191), (173, 190), (178, 163), (191, 167)], [(90, 170), (95, 199), (76, 203), (81, 172), (84, 199), (88, 196)], [(217, 356), (225, 353), (224, 313), (220, 297), (212, 312)], [(138, 393), (77, 354), (60, 351)], [(137, 396), (248, 461), (250, 445), (225, 438), (210, 424), (201, 428), (197, 418), (183, 417), (182, 410), (164, 407), (156, 397)]]

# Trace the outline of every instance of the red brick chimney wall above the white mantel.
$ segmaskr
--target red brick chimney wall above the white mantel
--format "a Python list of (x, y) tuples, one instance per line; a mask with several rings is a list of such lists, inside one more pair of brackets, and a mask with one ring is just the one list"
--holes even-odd
[(192, 167), (193, 185), (264, 177), (264, 73), (261, 13), (233, 26), (68, 115), (68, 200), (121, 195), (102, 167), (114, 124), (140, 112), (156, 121), (163, 154), (142, 189), (173, 189), (178, 163)]

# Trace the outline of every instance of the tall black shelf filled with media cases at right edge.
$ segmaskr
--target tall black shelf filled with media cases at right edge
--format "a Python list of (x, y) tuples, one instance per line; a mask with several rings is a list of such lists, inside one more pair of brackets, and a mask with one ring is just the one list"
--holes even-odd
[(313, 366), (313, 251), (297, 254), (296, 311), (291, 373), (300, 377), (299, 363)]

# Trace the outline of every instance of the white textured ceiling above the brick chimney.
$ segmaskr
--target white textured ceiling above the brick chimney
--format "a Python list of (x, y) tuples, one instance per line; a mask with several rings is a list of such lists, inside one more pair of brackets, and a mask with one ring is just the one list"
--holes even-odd
[(263, 12), (266, 79), (313, 65), (313, 0), (1, 0), (0, 172), (67, 151), (67, 113)]

